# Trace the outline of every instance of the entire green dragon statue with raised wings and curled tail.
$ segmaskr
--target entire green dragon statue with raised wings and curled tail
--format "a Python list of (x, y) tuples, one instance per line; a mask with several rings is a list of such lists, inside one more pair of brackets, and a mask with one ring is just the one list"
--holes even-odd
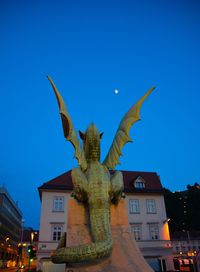
[(140, 120), (140, 108), (151, 88), (130, 110), (120, 122), (111, 148), (103, 163), (100, 163), (100, 139), (94, 124), (85, 133), (79, 131), (83, 141), (80, 145), (72, 120), (67, 112), (64, 101), (52, 79), (48, 77), (59, 104), (65, 138), (75, 148), (75, 157), (80, 168), (72, 169), (72, 196), (88, 206), (90, 228), (93, 242), (80, 246), (65, 246), (65, 235), (61, 238), (51, 259), (54, 263), (80, 263), (109, 256), (112, 251), (112, 234), (110, 226), (110, 204), (117, 204), (123, 197), (123, 177), (120, 171), (112, 175), (109, 170), (115, 169), (119, 163), (121, 150), (127, 142), (131, 142), (129, 131), (133, 123)]

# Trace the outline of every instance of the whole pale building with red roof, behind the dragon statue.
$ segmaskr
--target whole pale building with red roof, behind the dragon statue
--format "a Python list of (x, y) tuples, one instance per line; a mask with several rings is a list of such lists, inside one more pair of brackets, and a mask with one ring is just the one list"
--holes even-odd
[[(172, 246), (159, 176), (154, 172), (122, 173), (133, 237), (155, 271), (172, 270)], [(68, 171), (38, 188), (41, 199), (38, 268), (50, 257), (67, 230), (67, 203), (72, 187), (71, 171)]]

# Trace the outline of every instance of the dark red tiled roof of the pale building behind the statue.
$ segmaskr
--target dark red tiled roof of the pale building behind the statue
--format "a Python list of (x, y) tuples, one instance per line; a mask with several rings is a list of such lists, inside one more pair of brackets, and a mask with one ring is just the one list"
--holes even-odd
[[(124, 192), (125, 193), (163, 193), (163, 188), (160, 178), (155, 172), (138, 172), (138, 171), (121, 171), (124, 178)], [(113, 174), (114, 171), (111, 171)], [(135, 188), (134, 181), (141, 177), (145, 182), (145, 188)], [(38, 188), (39, 194), (43, 190), (52, 191), (72, 191), (73, 184), (71, 178), (71, 170), (48, 181)]]

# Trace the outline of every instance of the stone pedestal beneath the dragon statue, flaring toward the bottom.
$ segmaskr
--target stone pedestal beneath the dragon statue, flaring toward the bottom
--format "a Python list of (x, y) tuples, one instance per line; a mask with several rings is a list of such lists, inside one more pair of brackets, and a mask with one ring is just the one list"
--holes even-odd
[[(75, 200), (68, 203), (67, 246), (91, 242), (88, 214)], [(66, 265), (66, 272), (153, 272), (130, 232), (125, 200), (111, 206), (113, 250), (110, 257), (86, 265)]]

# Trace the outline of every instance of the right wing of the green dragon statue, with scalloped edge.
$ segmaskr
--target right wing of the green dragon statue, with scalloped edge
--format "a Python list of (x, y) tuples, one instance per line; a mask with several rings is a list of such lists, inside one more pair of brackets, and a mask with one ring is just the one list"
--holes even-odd
[(119, 156), (122, 155), (121, 151), (123, 146), (128, 142), (132, 142), (129, 136), (130, 128), (135, 122), (140, 120), (140, 108), (142, 103), (154, 89), (155, 87), (152, 87), (148, 92), (146, 92), (145, 95), (142, 96), (140, 100), (135, 105), (133, 105), (122, 118), (110, 150), (105, 160), (103, 161), (103, 164), (108, 169), (114, 170), (115, 166), (120, 163)]

